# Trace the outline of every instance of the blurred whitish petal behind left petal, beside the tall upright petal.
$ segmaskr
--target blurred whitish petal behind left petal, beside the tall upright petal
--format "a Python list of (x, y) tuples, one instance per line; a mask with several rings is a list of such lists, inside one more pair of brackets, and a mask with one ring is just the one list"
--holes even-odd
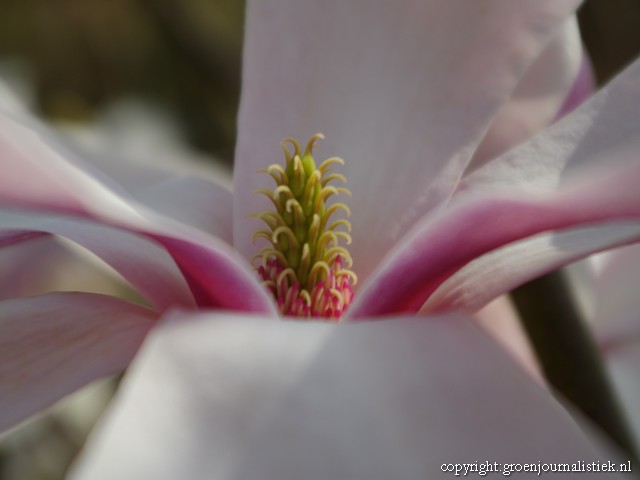
[(163, 114), (124, 103), (95, 125), (63, 133), (136, 200), (231, 243), (231, 172), (181, 148), (177, 127)]

